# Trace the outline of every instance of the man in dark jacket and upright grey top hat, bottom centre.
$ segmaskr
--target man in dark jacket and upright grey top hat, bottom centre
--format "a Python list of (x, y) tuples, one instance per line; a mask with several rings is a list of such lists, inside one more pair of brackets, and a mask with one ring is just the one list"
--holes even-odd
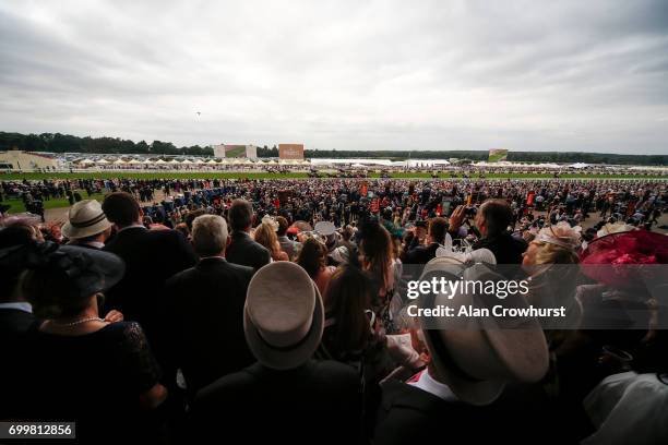
[(194, 442), (230, 435), (248, 443), (359, 442), (359, 373), (311, 359), (322, 339), (324, 309), (306, 270), (278, 261), (257, 272), (243, 320), (258, 362), (198, 392), (190, 416), (192, 434), (202, 441)]

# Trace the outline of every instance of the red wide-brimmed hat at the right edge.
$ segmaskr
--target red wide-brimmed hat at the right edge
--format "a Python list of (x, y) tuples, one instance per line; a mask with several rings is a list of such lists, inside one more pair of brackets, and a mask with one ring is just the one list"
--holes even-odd
[(611, 233), (592, 241), (580, 261), (583, 273), (599, 282), (642, 287), (648, 270), (642, 266), (668, 264), (668, 237), (646, 230)]

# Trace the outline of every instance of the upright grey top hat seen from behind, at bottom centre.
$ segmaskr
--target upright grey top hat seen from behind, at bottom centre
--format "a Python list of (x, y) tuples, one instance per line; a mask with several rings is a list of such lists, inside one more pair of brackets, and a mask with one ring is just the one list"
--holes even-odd
[(318, 349), (324, 309), (318, 287), (301, 266), (275, 262), (260, 268), (248, 286), (243, 330), (260, 363), (289, 370)]

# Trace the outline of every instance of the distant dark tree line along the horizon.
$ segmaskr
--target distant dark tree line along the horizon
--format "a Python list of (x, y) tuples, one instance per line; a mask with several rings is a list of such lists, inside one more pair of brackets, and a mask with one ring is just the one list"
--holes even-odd
[[(146, 141), (138, 143), (120, 137), (79, 137), (61, 133), (21, 134), (0, 132), (0, 151), (23, 149), (51, 153), (97, 153), (97, 154), (144, 154), (144, 155), (189, 155), (213, 156), (212, 147), (192, 145), (177, 147), (170, 142)], [(259, 157), (278, 157), (278, 147), (258, 147)], [(389, 158), (404, 159), (470, 159), (487, 160), (487, 151), (337, 151), (306, 149), (308, 158)], [(586, 163), (621, 165), (668, 165), (668, 155), (616, 155), (582, 152), (509, 152), (509, 161), (524, 163)]]

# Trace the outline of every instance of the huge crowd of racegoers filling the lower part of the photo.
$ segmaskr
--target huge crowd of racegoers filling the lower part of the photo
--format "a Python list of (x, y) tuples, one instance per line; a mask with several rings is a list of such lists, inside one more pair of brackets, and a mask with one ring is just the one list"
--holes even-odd
[[(61, 190), (107, 194), (0, 222), (0, 419), (75, 420), (82, 443), (668, 441), (665, 182), (3, 184)], [(574, 327), (408, 316), (406, 282), (453, 267), (528, 277), (506, 303)], [(600, 308), (649, 315), (592, 330)]]

